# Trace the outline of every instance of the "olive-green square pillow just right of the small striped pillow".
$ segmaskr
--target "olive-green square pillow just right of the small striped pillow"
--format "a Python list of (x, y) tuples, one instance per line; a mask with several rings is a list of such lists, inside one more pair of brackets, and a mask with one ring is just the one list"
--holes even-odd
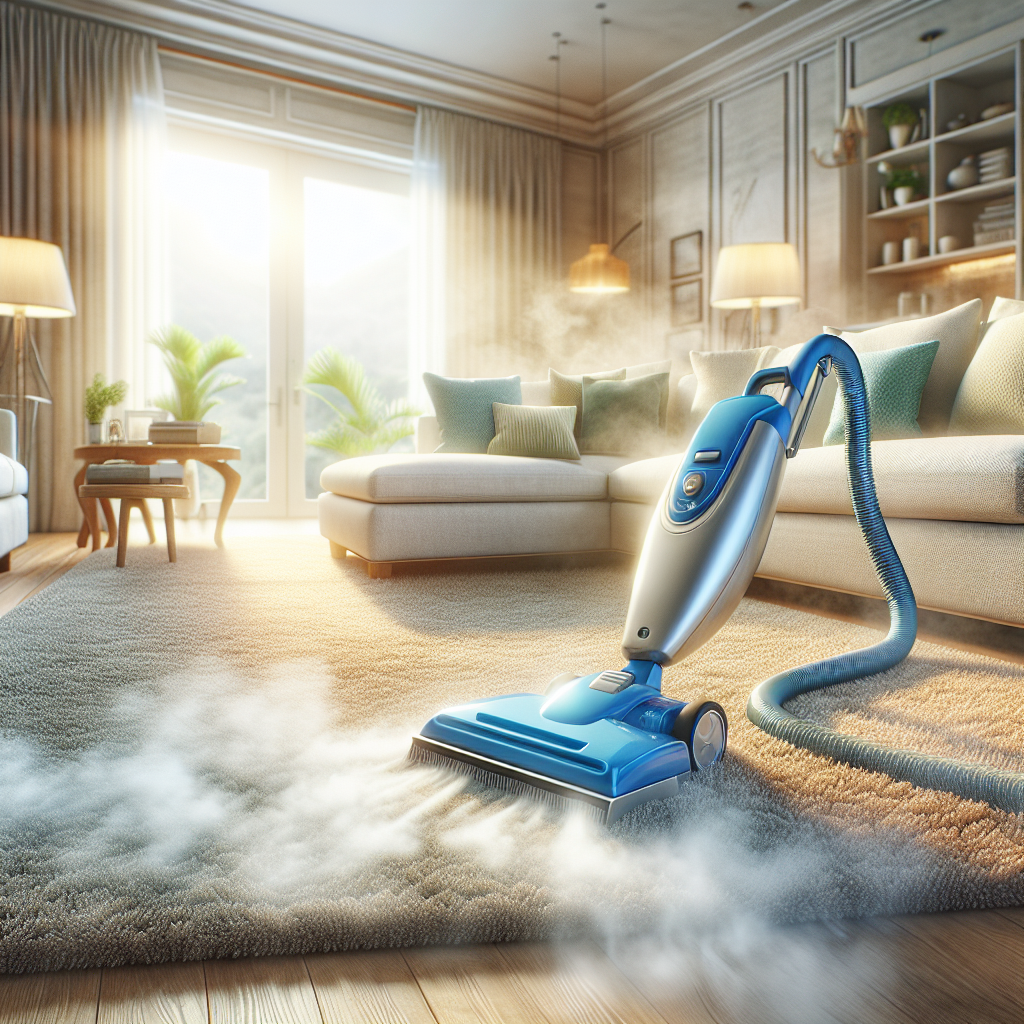
[(592, 455), (641, 455), (654, 446), (660, 429), (662, 391), (668, 374), (632, 380), (583, 379), (580, 451)]

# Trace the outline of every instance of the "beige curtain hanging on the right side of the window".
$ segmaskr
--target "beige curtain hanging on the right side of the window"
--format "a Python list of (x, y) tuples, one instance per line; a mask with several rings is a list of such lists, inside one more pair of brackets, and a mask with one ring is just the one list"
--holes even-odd
[[(561, 144), (421, 108), (413, 165), (412, 379), (526, 372), (559, 266)], [(422, 401), (422, 396), (421, 396)]]

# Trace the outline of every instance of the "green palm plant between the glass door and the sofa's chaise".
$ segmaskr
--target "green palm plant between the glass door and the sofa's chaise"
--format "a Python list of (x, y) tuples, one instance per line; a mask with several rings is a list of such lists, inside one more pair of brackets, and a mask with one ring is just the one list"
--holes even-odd
[[(306, 435), (313, 447), (335, 452), (343, 458), (386, 452), (395, 441), (413, 433), (413, 418), (420, 415), (409, 402), (385, 402), (366, 371), (353, 358), (333, 348), (322, 348), (302, 375), (303, 391), (319, 399), (335, 413), (325, 430)], [(310, 385), (333, 388), (347, 402), (337, 404)]]

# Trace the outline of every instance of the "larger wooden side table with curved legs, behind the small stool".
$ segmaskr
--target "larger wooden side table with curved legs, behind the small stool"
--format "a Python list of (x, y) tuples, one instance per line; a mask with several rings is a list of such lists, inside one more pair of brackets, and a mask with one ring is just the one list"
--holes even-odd
[[(83, 498), (81, 487), (85, 484), (85, 470), (93, 463), (106, 462), (108, 459), (130, 459), (142, 466), (152, 466), (161, 459), (173, 459), (175, 462), (184, 463), (189, 459), (203, 463), (218, 472), (224, 478), (224, 497), (220, 501), (220, 513), (217, 516), (217, 528), (213, 539), (218, 548), (224, 546), (224, 522), (227, 519), (228, 510), (234, 496), (239, 493), (239, 484), (242, 483), (242, 476), (238, 470), (227, 465), (227, 460), (242, 458), (242, 451), (237, 447), (229, 447), (226, 444), (150, 444), (147, 441), (128, 441), (122, 444), (82, 444), (75, 449), (75, 458), (82, 461), (82, 468), (75, 474), (75, 493), (78, 495), (78, 503), (82, 506), (85, 515), (85, 522), (78, 534), (78, 546), (84, 548), (89, 537), (92, 537), (92, 550), (99, 548), (99, 512), (96, 509), (98, 500), (103, 508), (103, 515), (108, 524), (106, 547), (114, 547), (114, 512), (111, 508), (110, 499), (105, 498)], [(90, 484), (99, 486), (99, 484)], [(154, 487), (163, 484), (139, 484), (139, 486)], [(167, 484), (171, 486), (171, 484)], [(187, 490), (187, 488), (185, 488)], [(152, 494), (152, 492), (147, 492)], [(157, 496), (153, 494), (153, 497)], [(179, 496), (180, 497), (180, 496)], [(145, 502), (141, 503), (142, 517), (148, 519), (148, 509)], [(154, 538), (152, 525), (146, 523), (151, 529), (150, 537)]]

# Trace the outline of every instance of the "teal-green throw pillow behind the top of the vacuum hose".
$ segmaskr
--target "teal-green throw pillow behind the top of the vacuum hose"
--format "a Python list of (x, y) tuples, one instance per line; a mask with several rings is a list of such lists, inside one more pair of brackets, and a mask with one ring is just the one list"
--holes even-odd
[[(871, 422), (871, 440), (896, 437), (920, 437), (918, 413), (921, 395), (939, 350), (937, 341), (888, 348), (879, 352), (860, 352), (860, 369), (867, 392), (867, 414)], [(836, 395), (831, 420), (825, 431), (825, 444), (846, 442), (846, 416), (842, 388)]]

